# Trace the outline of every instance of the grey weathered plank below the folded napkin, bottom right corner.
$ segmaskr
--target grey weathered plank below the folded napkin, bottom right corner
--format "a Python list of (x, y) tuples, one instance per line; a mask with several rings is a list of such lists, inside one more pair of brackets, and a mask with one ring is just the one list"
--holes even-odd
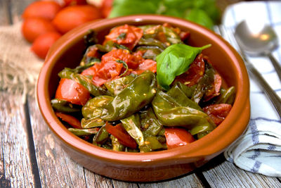
[(275, 177), (249, 173), (218, 156), (202, 168), (211, 187), (281, 187)]

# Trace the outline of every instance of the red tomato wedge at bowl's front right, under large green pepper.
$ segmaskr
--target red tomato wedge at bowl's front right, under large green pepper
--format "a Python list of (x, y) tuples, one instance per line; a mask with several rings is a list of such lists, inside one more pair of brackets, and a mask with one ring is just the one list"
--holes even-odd
[(190, 132), (178, 127), (165, 127), (166, 146), (174, 149), (178, 146), (185, 146), (195, 141)]

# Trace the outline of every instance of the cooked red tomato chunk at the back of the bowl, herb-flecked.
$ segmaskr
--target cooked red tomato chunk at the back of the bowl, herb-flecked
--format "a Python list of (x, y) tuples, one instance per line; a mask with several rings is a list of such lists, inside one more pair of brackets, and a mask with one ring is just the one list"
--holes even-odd
[(105, 44), (107, 41), (112, 40), (117, 44), (127, 46), (129, 49), (133, 49), (138, 41), (143, 36), (143, 30), (133, 25), (122, 25), (113, 28), (108, 35), (105, 36)]

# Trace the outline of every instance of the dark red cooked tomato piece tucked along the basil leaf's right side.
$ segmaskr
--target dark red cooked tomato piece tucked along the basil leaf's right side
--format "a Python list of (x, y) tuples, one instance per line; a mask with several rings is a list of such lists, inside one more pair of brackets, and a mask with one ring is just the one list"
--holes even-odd
[(188, 70), (177, 76), (176, 80), (191, 87), (204, 76), (205, 63), (203, 54), (199, 54), (195, 60), (190, 64)]

